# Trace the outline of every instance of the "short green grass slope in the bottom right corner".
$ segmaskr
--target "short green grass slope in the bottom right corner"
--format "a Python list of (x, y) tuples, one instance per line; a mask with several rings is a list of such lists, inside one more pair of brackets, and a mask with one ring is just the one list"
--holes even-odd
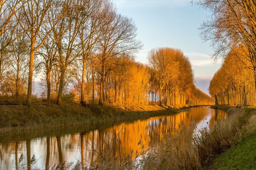
[(255, 170), (256, 133), (222, 153), (209, 170)]

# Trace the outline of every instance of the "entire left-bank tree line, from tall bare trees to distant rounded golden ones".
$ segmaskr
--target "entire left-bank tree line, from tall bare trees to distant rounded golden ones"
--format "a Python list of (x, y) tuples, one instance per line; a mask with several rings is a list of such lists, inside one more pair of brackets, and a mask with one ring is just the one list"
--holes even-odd
[[(154, 49), (149, 65), (134, 60), (143, 46), (137, 27), (110, 0), (0, 0), (0, 17), (2, 97), (26, 96), (31, 105), (32, 82), (41, 77), (48, 106), (67, 94), (100, 105), (210, 101), (182, 51)], [(157, 66), (154, 56), (166, 57)]]

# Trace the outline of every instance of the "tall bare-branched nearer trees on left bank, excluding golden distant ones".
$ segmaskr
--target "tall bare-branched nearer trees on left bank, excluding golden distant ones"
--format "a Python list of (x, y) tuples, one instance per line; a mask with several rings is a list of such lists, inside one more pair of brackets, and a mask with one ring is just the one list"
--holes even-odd
[(17, 98), (27, 83), (28, 105), (37, 68), (44, 70), (47, 104), (51, 103), (51, 77), (55, 77), (57, 104), (61, 104), (64, 87), (79, 62), (81, 102), (90, 62), (100, 77), (98, 94), (102, 104), (111, 58), (132, 58), (142, 47), (136, 40), (137, 28), (132, 19), (117, 14), (109, 0), (1, 0), (0, 16), (1, 94), (8, 94), (8, 83), (13, 83), (10, 78), (15, 77)]

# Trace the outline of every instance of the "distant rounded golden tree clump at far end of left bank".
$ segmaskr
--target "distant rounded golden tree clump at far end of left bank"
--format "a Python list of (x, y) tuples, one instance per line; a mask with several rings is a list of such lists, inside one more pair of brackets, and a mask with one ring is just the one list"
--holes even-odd
[[(212, 102), (208, 95), (196, 90), (191, 63), (181, 50), (153, 49), (148, 54), (148, 62), (153, 79), (151, 95), (152, 98), (154, 93), (155, 98), (159, 95), (160, 105), (162, 101), (165, 105), (199, 105)], [(156, 85), (157, 87), (153, 87)]]

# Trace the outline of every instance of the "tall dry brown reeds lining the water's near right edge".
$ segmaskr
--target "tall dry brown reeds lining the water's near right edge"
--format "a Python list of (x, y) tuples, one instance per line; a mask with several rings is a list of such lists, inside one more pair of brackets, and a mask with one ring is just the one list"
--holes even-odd
[[(182, 125), (174, 135), (165, 134), (161, 141), (142, 150), (136, 159), (108, 159), (101, 161), (92, 169), (141, 169), (141, 170), (195, 170), (207, 167), (218, 154), (241, 142), (256, 132), (256, 111), (231, 108), (227, 119), (218, 122), (211, 129), (195, 130)], [(102, 159), (103, 160), (103, 159)], [(126, 162), (122, 162), (126, 160)], [(123, 165), (126, 166), (123, 166)], [(110, 166), (111, 165), (111, 166)]]

